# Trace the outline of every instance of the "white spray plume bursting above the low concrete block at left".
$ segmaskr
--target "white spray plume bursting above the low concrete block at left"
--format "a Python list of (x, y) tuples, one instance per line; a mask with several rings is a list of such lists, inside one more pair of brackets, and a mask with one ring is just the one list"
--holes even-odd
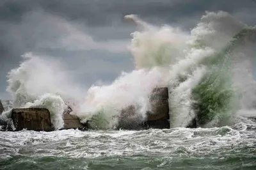
[[(46, 108), (51, 113), (52, 125), (63, 127), (62, 114), (66, 103), (81, 99), (77, 84), (72, 84), (72, 76), (63, 70), (58, 60), (27, 53), (18, 68), (8, 73), (7, 91), (12, 95), (13, 108)], [(64, 102), (65, 100), (65, 102)]]

